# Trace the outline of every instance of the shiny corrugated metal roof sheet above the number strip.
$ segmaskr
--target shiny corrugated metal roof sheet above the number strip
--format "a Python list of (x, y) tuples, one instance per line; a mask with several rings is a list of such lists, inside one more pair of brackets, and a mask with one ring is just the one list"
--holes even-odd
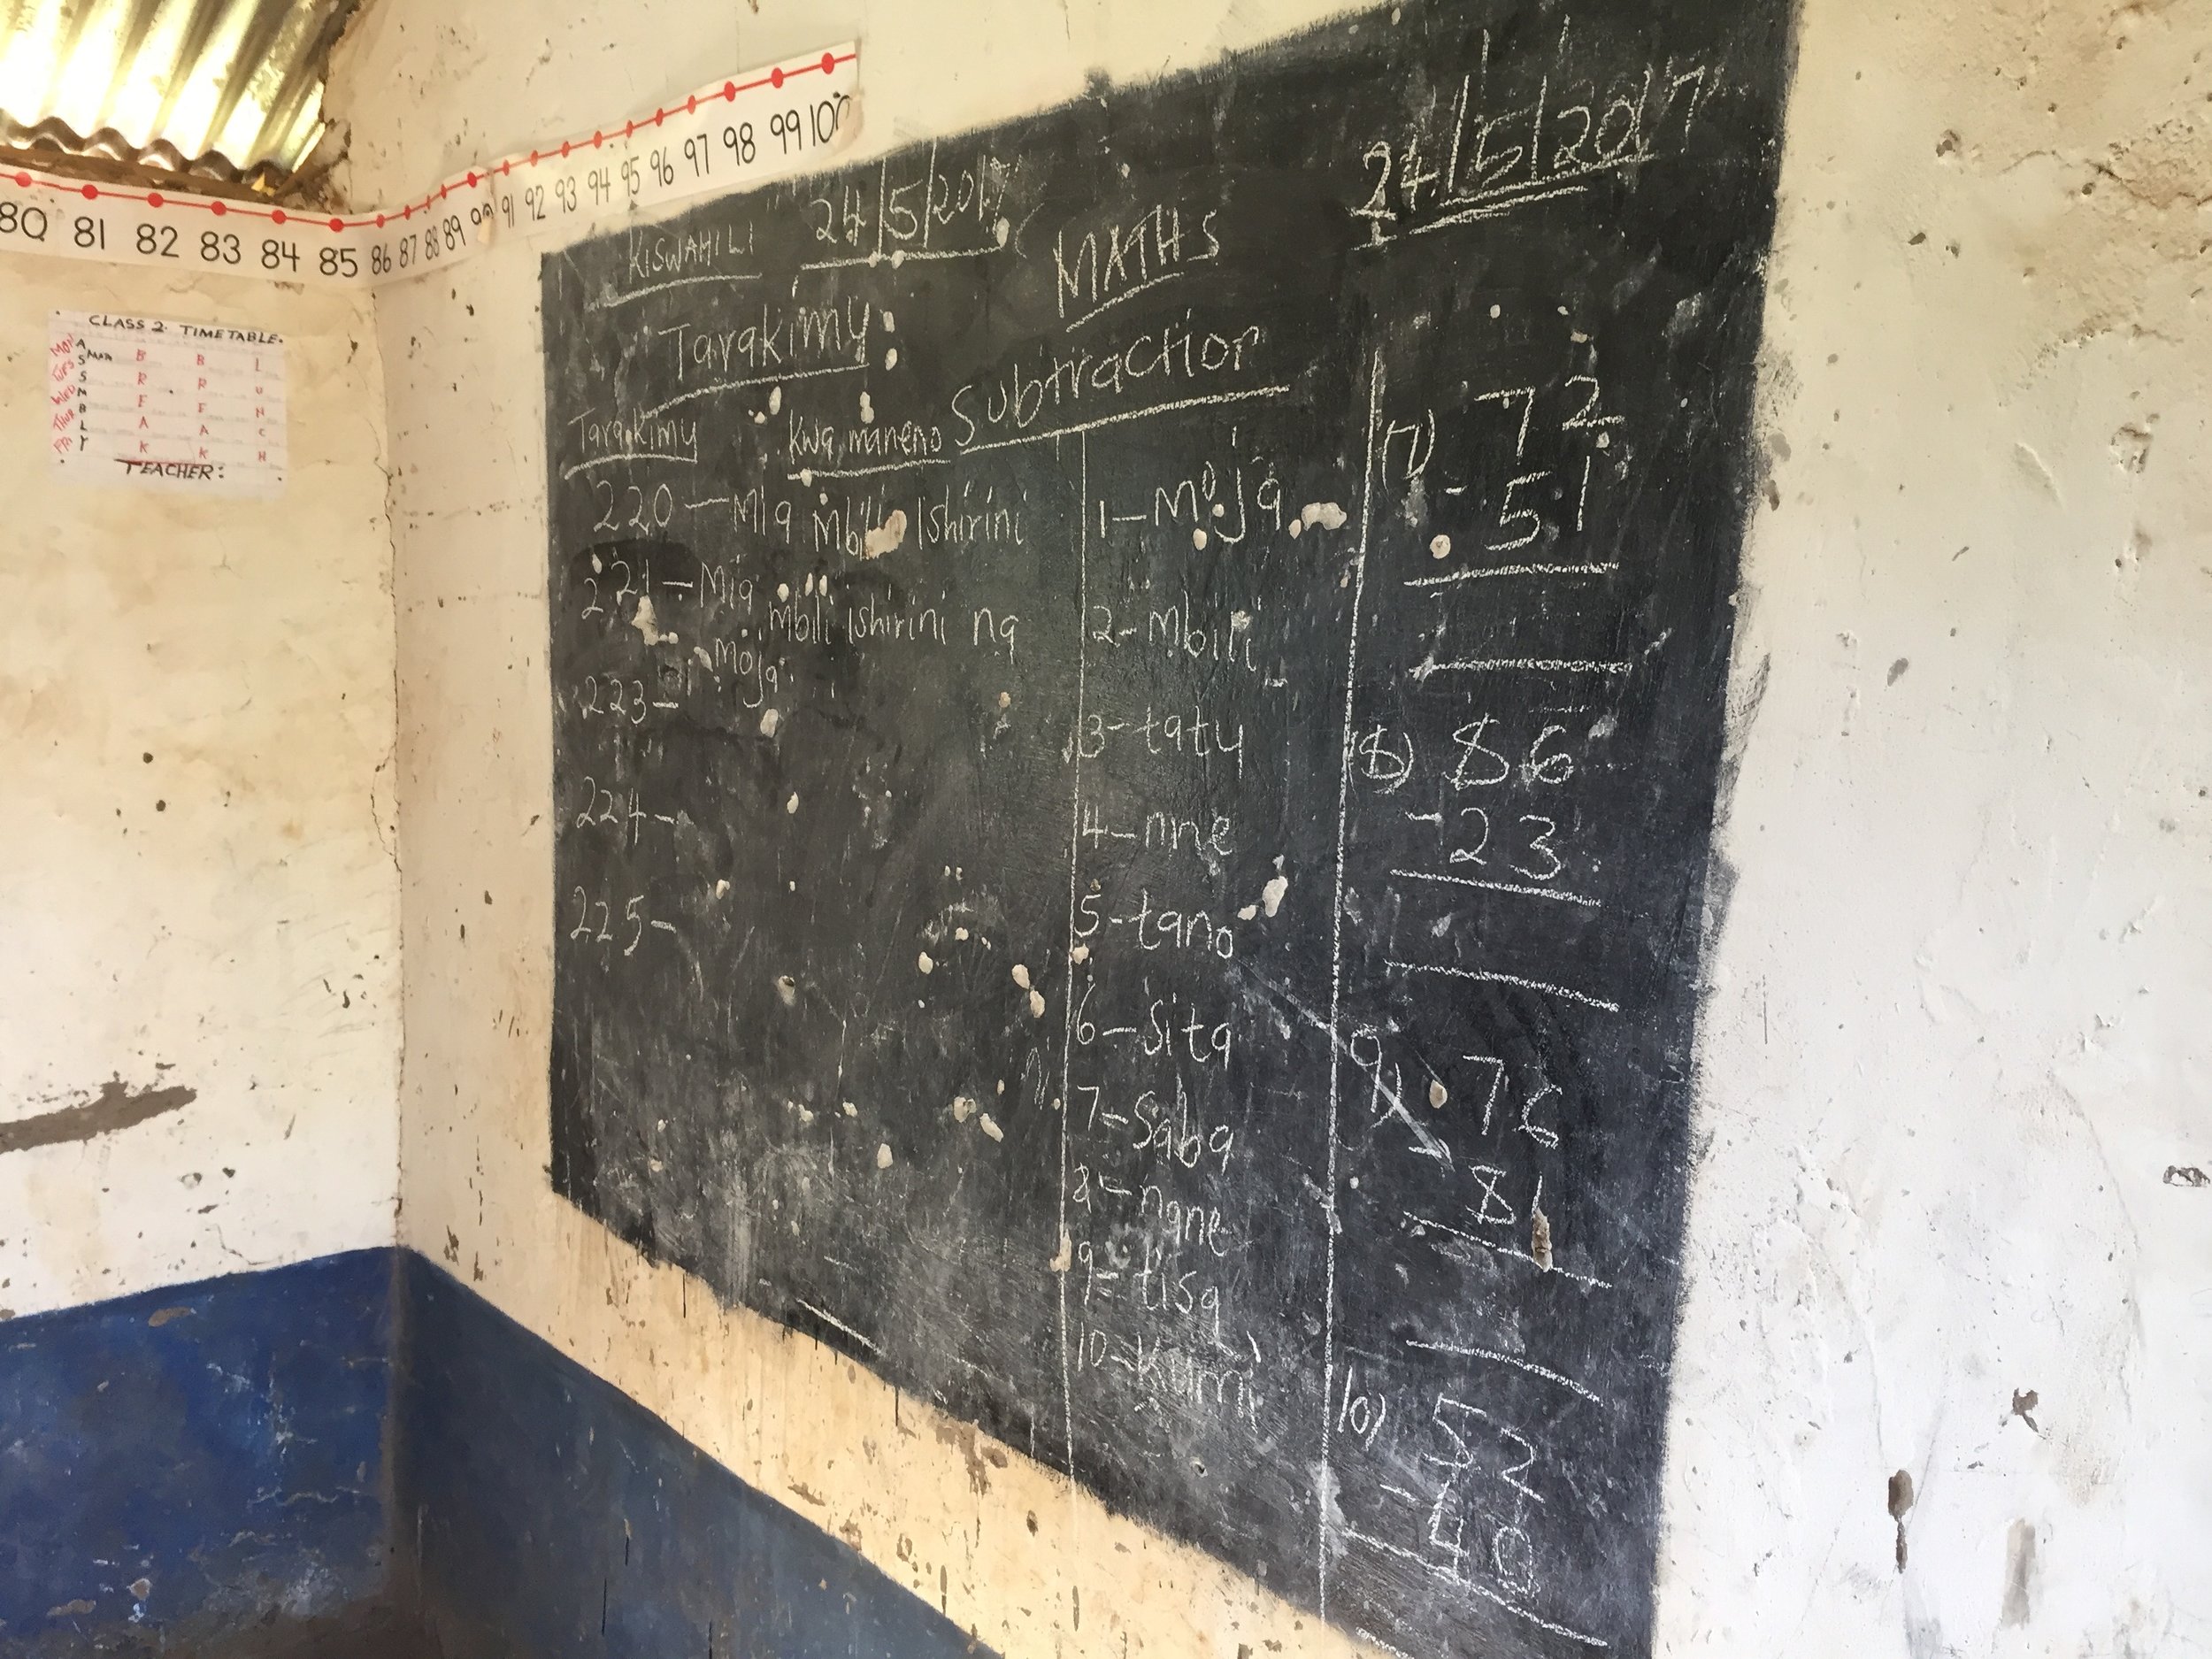
[(0, 0), (0, 144), (276, 190), (354, 0)]

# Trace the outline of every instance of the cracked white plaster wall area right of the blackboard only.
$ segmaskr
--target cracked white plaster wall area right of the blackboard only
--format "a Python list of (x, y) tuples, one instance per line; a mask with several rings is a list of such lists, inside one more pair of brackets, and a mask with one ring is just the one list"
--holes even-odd
[(1674, 1652), (2212, 1652), (2208, 97), (2205, 7), (1805, 4)]

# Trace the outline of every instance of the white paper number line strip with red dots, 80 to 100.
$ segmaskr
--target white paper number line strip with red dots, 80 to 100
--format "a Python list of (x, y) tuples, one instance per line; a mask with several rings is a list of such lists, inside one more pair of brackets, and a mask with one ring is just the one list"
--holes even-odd
[(374, 288), (500, 234), (580, 232), (670, 201), (761, 184), (852, 144), (854, 42), (701, 86), (619, 126), (456, 173), (374, 212), (310, 212), (0, 168), (0, 252)]

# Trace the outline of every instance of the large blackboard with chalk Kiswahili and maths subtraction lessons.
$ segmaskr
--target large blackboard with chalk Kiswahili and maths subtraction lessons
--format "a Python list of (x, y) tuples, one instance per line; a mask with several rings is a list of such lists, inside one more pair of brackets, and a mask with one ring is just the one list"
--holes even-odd
[(551, 257), (557, 1190), (1347, 1630), (1646, 1652), (1787, 46), (1409, 4)]

